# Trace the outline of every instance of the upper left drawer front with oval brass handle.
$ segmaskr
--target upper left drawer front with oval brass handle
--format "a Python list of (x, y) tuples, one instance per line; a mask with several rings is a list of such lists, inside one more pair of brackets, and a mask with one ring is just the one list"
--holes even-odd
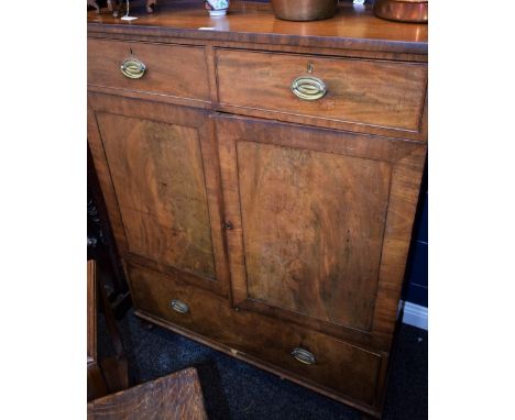
[[(131, 59), (144, 65), (142, 77), (122, 73)], [(202, 47), (88, 38), (89, 85), (209, 101), (207, 71)]]

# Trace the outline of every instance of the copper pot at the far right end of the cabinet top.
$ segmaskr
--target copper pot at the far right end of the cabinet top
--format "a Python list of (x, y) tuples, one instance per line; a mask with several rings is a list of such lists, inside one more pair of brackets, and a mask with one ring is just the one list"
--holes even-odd
[(391, 21), (427, 23), (428, 0), (375, 0), (374, 13)]

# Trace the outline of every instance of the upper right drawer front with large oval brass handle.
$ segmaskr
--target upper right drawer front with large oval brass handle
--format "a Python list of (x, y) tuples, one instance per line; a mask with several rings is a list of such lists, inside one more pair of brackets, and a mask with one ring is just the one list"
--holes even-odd
[[(418, 132), (427, 66), (219, 49), (218, 95), (223, 104), (346, 123)], [(292, 84), (297, 78), (297, 92)], [(326, 88), (306, 81), (317, 78)], [(311, 85), (311, 86), (309, 86)], [(299, 88), (298, 88), (299, 86)], [(274, 115), (281, 119), (281, 114)], [(291, 120), (291, 119), (289, 119)]]

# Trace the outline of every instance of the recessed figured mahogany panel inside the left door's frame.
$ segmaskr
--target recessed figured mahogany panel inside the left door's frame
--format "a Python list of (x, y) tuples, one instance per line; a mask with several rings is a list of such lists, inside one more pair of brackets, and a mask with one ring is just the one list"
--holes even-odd
[(215, 278), (197, 130), (106, 112), (97, 121), (129, 251)]

